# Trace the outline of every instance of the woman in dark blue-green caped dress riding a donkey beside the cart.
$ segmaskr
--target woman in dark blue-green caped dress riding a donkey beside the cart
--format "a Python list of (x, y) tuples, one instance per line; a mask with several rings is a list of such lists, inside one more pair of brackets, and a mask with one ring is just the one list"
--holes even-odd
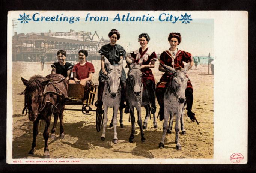
[[(95, 103), (96, 106), (102, 107), (102, 93), (104, 90), (105, 76), (108, 73), (107, 66), (104, 62), (104, 57), (108, 59), (111, 65), (118, 65), (121, 59), (125, 58), (125, 50), (122, 46), (116, 44), (117, 40), (120, 39), (120, 33), (116, 29), (112, 29), (108, 33), (108, 37), (110, 38), (110, 43), (101, 47), (99, 53), (101, 54), (101, 70), (99, 71), (99, 87), (98, 87), (98, 101)], [(122, 74), (120, 78), (121, 84), (121, 103), (120, 107), (125, 108), (125, 87), (126, 87), (126, 74), (124, 69), (122, 68)]]

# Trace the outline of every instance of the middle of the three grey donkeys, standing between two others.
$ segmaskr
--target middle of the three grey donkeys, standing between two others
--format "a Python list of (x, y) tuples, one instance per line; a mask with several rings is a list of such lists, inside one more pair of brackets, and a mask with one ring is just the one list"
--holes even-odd
[[(143, 129), (146, 129), (148, 123), (148, 117), (150, 116), (150, 101), (148, 98), (147, 90), (143, 89), (142, 84), (142, 72), (140, 71), (141, 63), (139, 65), (131, 64), (129, 65), (128, 80), (126, 85), (126, 98), (130, 108), (131, 116), (131, 135), (129, 142), (133, 142), (134, 132), (135, 132), (135, 117), (134, 117), (134, 107), (137, 110), (138, 115), (138, 125), (140, 127), (141, 141), (145, 141)], [(142, 127), (141, 118), (141, 107), (144, 106), (146, 109), (146, 118), (144, 120), (144, 125)], [(142, 129), (143, 128), (143, 129)], [(157, 128), (157, 122), (154, 114), (154, 128)]]

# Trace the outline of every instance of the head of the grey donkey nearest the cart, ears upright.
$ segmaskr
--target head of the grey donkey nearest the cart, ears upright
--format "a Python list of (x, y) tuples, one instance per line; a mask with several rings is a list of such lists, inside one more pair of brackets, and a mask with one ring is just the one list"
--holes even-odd
[(120, 88), (123, 59), (120, 60), (118, 65), (111, 65), (108, 59), (105, 57), (105, 65), (107, 66), (109, 71), (106, 79), (108, 91), (110, 92), (112, 98), (116, 98), (118, 89)]

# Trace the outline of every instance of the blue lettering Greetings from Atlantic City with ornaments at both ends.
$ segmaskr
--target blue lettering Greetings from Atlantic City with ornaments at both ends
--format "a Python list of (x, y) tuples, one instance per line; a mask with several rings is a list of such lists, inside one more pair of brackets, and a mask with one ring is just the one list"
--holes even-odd
[(179, 15), (174, 15), (172, 12), (162, 12), (159, 15), (150, 15), (145, 13), (143, 15), (133, 15), (131, 12), (128, 13), (117, 13), (115, 17), (109, 16), (98, 16), (92, 13), (85, 13), (83, 17), (80, 16), (68, 16), (64, 13), (60, 13), (57, 15), (44, 15), (40, 12), (35, 12), (33, 14), (20, 14), (18, 20), (21, 23), (29, 23), (29, 22), (68, 22), (70, 24), (75, 22), (170, 22), (170, 23), (190, 23), (193, 19), (190, 14), (182, 13)]

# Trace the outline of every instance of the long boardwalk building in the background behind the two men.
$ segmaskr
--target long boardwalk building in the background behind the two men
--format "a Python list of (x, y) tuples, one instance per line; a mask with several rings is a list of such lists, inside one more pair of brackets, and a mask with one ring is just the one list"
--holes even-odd
[(57, 51), (65, 50), (67, 60), (77, 60), (77, 54), (80, 49), (88, 51), (88, 60), (100, 59), (98, 50), (109, 42), (109, 40), (100, 39), (97, 32), (93, 36), (88, 32), (56, 32), (51, 33), (20, 33), (12, 37), (12, 60), (27, 61), (39, 60), (44, 53), (46, 61), (56, 61)]

